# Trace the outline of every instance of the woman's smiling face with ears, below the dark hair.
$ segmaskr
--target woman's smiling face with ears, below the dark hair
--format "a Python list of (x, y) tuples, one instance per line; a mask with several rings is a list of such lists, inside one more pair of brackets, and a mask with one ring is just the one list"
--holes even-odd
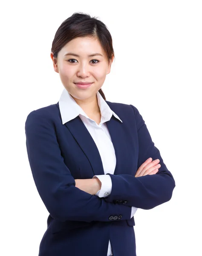
[[(66, 55), (71, 52), (71, 55)], [(75, 56), (74, 54), (78, 55)], [(96, 54), (95, 56), (89, 56)], [(100, 54), (100, 55), (97, 55)], [(90, 37), (78, 37), (69, 41), (53, 58), (55, 72), (59, 73), (61, 82), (76, 100), (92, 101), (102, 87), (106, 75), (110, 73), (112, 61), (108, 64), (99, 41)], [(92, 83), (87, 88), (79, 88), (79, 81)]]

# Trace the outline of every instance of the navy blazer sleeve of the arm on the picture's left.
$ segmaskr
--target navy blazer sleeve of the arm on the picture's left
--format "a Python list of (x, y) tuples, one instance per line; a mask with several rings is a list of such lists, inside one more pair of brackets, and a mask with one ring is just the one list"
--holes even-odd
[[(131, 207), (107, 203), (75, 187), (75, 179), (64, 163), (55, 124), (44, 112), (32, 111), (25, 122), (26, 148), (40, 198), (50, 215), (60, 221), (130, 220)], [(121, 215), (121, 217), (120, 217)]]

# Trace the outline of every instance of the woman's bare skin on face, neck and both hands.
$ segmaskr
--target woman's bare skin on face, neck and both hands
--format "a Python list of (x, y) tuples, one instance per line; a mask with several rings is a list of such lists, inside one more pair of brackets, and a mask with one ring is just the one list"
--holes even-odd
[[(79, 57), (66, 55), (69, 52), (75, 53)], [(94, 53), (101, 55), (88, 56)], [(96, 93), (104, 84), (107, 74), (110, 73), (114, 58), (108, 63), (101, 44), (97, 39), (91, 37), (74, 38), (58, 52), (57, 58), (53, 57), (52, 52), (50, 56), (54, 70), (59, 73), (63, 86), (87, 116), (99, 124), (101, 113)], [(78, 81), (92, 82), (92, 85), (86, 89), (81, 89), (75, 85)], [(145, 161), (137, 170), (135, 177), (156, 174), (157, 168), (160, 168), (157, 163), (159, 160)], [(101, 182), (99, 179), (76, 179), (75, 186), (95, 195), (101, 189)]]

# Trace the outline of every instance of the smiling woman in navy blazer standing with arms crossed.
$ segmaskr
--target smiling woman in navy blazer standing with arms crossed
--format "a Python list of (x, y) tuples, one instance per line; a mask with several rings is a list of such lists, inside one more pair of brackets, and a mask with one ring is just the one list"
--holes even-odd
[(133, 105), (101, 87), (114, 59), (100, 20), (74, 13), (52, 42), (59, 101), (26, 118), (26, 148), (49, 212), (39, 256), (136, 256), (138, 208), (172, 197), (175, 181)]

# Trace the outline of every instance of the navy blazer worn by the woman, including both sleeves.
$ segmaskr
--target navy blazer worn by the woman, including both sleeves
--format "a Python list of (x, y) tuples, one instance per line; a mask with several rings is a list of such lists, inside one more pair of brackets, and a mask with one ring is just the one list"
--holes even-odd
[[(136, 256), (131, 206), (152, 209), (172, 197), (175, 181), (133, 105), (106, 101), (121, 118), (107, 121), (115, 148), (112, 192), (99, 198), (75, 187), (75, 179), (104, 175), (98, 148), (77, 116), (62, 124), (59, 102), (29, 113), (26, 148), (38, 193), (49, 212), (39, 256)], [(71, 111), (71, 110), (70, 110)], [(149, 157), (156, 175), (135, 177)]]

